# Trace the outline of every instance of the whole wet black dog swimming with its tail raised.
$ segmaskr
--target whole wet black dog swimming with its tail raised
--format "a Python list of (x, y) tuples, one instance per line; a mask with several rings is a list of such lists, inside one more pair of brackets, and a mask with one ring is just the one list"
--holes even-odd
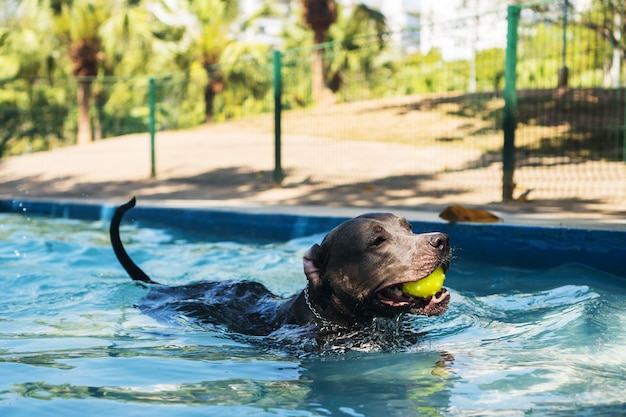
[[(134, 206), (133, 198), (113, 215), (113, 250), (133, 280), (157, 284), (130, 259), (120, 240), (122, 217)], [(414, 234), (406, 219), (393, 214), (364, 214), (340, 224), (321, 245), (313, 245), (303, 261), (308, 285), (291, 298), (278, 297), (256, 282), (200, 282), (156, 285), (141, 308), (182, 313), (246, 335), (269, 335), (290, 324), (308, 326), (326, 340), (376, 317), (434, 316), (448, 308), (450, 293), (445, 288), (428, 298), (402, 292), (403, 283), (424, 278), (439, 266), (447, 271), (448, 236)]]

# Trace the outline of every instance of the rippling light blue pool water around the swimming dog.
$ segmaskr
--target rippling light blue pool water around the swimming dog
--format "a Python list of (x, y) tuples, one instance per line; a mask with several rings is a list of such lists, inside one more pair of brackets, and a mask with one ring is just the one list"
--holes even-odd
[[(419, 342), (298, 355), (141, 314), (147, 290), (118, 266), (107, 227), (0, 215), (1, 416), (626, 414), (621, 278), (459, 257), (449, 311), (404, 323)], [(303, 287), (302, 253), (321, 239), (202, 242), (145, 226), (122, 235), (163, 283), (256, 279), (284, 295)]]

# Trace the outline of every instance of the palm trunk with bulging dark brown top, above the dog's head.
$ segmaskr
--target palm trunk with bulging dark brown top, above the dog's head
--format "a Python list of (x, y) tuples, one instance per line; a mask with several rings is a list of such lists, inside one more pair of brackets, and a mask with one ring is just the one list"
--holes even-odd
[(337, 20), (337, 5), (333, 0), (300, 0), (302, 19), (313, 31), (313, 61), (311, 63), (311, 81), (313, 98), (316, 103), (322, 100), (324, 93), (323, 50), (320, 44), (326, 39), (326, 32)]

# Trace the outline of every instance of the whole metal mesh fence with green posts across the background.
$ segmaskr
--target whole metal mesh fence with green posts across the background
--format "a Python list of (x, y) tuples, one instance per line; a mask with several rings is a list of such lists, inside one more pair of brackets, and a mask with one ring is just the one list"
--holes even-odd
[[(393, 185), (446, 201), (525, 193), (623, 201), (622, 59), (586, 24), (588, 11), (562, 3), (325, 44), (326, 88), (316, 100), (311, 48), (165, 76), (95, 78), (94, 136), (152, 131), (158, 141), (164, 130), (240, 120), (232, 128), (246, 135), (280, 135), (263, 139), (265, 154), (280, 158), (259, 177), (268, 183)], [(74, 137), (74, 80), (1, 84), (2, 137), (29, 138), (34, 149)]]

